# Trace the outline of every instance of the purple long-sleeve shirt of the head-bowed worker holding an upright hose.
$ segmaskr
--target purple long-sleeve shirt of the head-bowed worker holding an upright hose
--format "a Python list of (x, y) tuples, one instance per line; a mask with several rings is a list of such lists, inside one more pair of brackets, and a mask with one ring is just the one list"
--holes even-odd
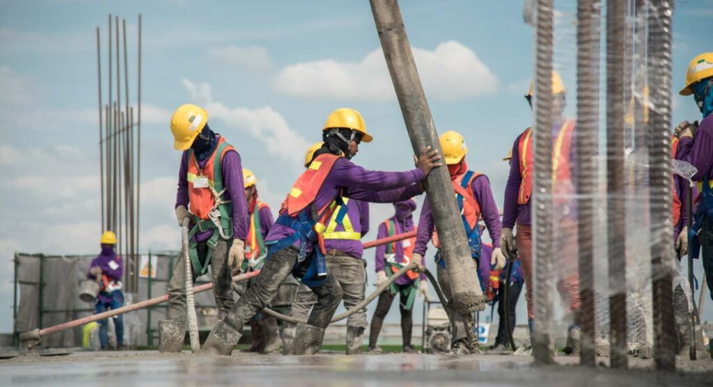
[[(219, 140), (220, 135), (215, 135), (215, 140)], [(213, 156), (211, 155), (210, 158)], [(198, 166), (202, 169), (210, 158), (198, 161)], [(228, 151), (220, 163), (223, 178), (223, 186), (227, 188), (223, 194), (223, 200), (230, 200), (232, 204), (232, 237), (234, 239), (245, 240), (247, 237), (247, 202), (245, 201), (245, 190), (242, 182), (242, 162), (237, 151)], [(188, 208), (188, 151), (183, 151), (178, 170), (178, 190), (176, 190), (176, 204)], [(198, 242), (210, 238), (211, 230), (200, 232), (195, 235)]]

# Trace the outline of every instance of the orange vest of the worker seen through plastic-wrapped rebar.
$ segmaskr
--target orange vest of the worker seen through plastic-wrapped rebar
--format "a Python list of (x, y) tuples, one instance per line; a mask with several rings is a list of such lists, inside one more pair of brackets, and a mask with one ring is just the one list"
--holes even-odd
[[(553, 195), (570, 195), (573, 193), (571, 185), (555, 184), (555, 182), (571, 182), (570, 148), (572, 135), (575, 129), (575, 120), (566, 120), (560, 128), (552, 152), (552, 185)], [(527, 128), (520, 135), (518, 142), (518, 155), (520, 157), (520, 191), (518, 192), (518, 205), (526, 205), (530, 201), (533, 190), (533, 138), (532, 128)]]

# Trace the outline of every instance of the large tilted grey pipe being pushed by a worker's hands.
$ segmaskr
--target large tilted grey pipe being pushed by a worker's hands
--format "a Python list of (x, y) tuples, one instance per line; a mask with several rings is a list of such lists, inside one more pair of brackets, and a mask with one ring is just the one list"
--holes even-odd
[[(404, 21), (401, 19), (399, 2), (369, 2), (414, 153), (419, 154), (421, 150), (431, 146), (442, 155), (436, 125), (431, 117), (409, 38), (406, 36)], [(483, 291), (478, 282), (476, 264), (471, 259), (471, 249), (451, 188), (451, 177), (445, 167), (435, 168), (426, 177), (426, 194), (433, 210), (438, 239), (442, 241), (441, 254), (448, 265), (453, 307), (456, 313), (461, 315), (481, 311), (485, 309)]]

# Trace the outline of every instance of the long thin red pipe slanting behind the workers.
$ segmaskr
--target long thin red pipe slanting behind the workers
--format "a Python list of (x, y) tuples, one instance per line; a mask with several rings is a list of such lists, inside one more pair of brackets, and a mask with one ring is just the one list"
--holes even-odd
[[(416, 236), (416, 231), (411, 231), (411, 232), (404, 232), (403, 234), (392, 235), (391, 237), (376, 239), (371, 242), (364, 243), (364, 249), (381, 246), (382, 244), (393, 243), (393, 242), (403, 240), (403, 239), (409, 239), (409, 238), (412, 238), (415, 236)], [(246, 279), (250, 279), (252, 277), (257, 277), (257, 274), (260, 274), (260, 270), (255, 270), (255, 272), (250, 272), (250, 273), (246, 273), (246, 274), (239, 274), (235, 277), (232, 277), (232, 281), (233, 282), (245, 281)], [(212, 283), (202, 284), (198, 287), (193, 288), (193, 293), (200, 293), (202, 291), (207, 291), (207, 290), (212, 289), (212, 287), (213, 287)], [(158, 305), (165, 301), (168, 301), (168, 294), (163, 294), (163, 296), (154, 297), (153, 299), (139, 301), (135, 304), (122, 306), (118, 309), (113, 309), (111, 311), (104, 311), (99, 314), (93, 314), (91, 316), (82, 317), (81, 319), (67, 321), (66, 323), (63, 323), (63, 324), (49, 326), (48, 328), (40, 329), (39, 336), (42, 337), (42, 336), (46, 336), (48, 334), (53, 334), (58, 331), (64, 331), (66, 329), (71, 329), (76, 326), (81, 326), (81, 325), (84, 325), (87, 323), (91, 323), (93, 321), (108, 319), (109, 317), (118, 316), (119, 314), (124, 314), (129, 311), (135, 311), (138, 309), (148, 308), (148, 306)]]

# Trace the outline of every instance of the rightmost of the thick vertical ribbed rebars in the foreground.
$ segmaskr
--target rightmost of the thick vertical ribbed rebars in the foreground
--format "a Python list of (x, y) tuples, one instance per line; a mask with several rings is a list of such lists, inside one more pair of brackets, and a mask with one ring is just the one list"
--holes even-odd
[(651, 0), (648, 16), (650, 87), (651, 275), (656, 368), (676, 368), (673, 315), (673, 225), (671, 213), (671, 16), (672, 1)]

